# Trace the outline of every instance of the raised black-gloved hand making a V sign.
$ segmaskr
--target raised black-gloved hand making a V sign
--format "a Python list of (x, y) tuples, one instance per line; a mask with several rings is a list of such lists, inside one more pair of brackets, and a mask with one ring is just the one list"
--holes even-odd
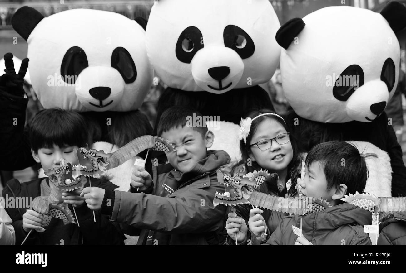
[(18, 74), (15, 73), (14, 69), (14, 62), (13, 62), (13, 54), (6, 53), (4, 55), (4, 64), (6, 69), (4, 72), (6, 74), (0, 76), (0, 90), (7, 92), (14, 96), (21, 96), (23, 97), (24, 92), (24, 76), (27, 73), (28, 68), (28, 58), (22, 60), (20, 71)]

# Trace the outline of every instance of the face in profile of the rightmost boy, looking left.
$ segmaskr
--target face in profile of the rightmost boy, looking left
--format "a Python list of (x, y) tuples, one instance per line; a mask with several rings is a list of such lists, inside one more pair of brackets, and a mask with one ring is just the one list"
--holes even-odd
[(310, 166), (305, 167), (306, 174), (300, 182), (299, 196), (322, 198), (332, 202), (332, 196), (335, 194), (335, 188), (327, 190), (327, 179), (324, 175), (320, 161), (313, 162)]

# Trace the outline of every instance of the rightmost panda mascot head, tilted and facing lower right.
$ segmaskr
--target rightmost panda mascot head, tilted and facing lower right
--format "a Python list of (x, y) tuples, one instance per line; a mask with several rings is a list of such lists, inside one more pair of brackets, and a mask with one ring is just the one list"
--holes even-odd
[(406, 8), (389, 3), (381, 13), (350, 6), (320, 9), (281, 27), (286, 98), (301, 117), (317, 122), (370, 122), (393, 96), (400, 69), (395, 32)]

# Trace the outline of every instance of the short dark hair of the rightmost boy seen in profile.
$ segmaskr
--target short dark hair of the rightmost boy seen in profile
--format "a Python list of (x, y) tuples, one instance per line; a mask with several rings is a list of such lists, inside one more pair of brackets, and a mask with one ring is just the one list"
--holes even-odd
[(364, 156), (356, 147), (345, 141), (320, 143), (309, 151), (306, 167), (320, 162), (327, 180), (327, 190), (347, 186), (347, 195), (362, 193), (368, 178), (368, 168)]

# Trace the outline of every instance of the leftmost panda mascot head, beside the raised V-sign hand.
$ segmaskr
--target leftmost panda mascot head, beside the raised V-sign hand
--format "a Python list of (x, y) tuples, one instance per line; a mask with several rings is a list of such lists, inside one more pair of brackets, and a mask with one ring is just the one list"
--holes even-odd
[(17, 10), (13, 28), (28, 42), (32, 86), (45, 108), (138, 109), (152, 83), (145, 30), (118, 13), (72, 9), (43, 17)]

